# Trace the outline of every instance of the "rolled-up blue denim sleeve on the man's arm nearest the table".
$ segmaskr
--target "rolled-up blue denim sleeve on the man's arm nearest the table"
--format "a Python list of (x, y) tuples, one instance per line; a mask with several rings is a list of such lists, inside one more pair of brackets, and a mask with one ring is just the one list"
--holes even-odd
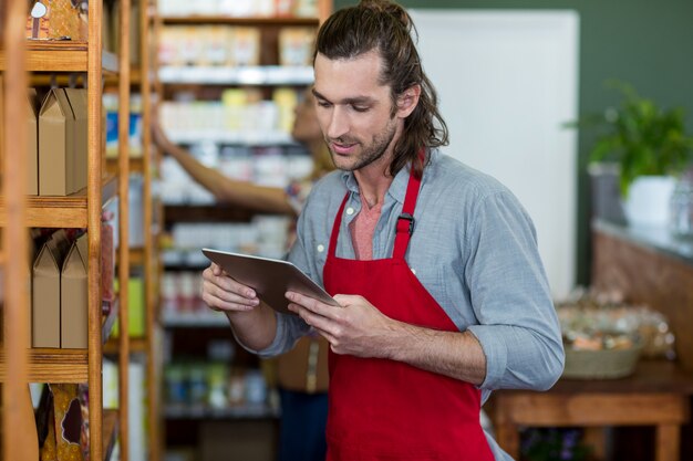
[(476, 203), (467, 223), (465, 277), (486, 356), (483, 389), (546, 390), (563, 369), (560, 326), (534, 224), (509, 192)]

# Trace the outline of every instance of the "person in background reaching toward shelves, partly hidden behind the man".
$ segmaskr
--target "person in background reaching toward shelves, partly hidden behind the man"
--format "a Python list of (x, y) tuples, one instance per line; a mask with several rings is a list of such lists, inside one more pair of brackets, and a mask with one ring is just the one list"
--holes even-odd
[[(297, 217), (313, 182), (334, 168), (318, 124), (311, 92), (306, 92), (302, 102), (297, 106), (291, 136), (310, 151), (313, 171), (308, 178), (294, 181), (286, 189), (228, 178), (204, 166), (189, 151), (173, 144), (156, 123), (153, 132), (156, 145), (174, 157), (219, 202), (261, 212)], [(310, 334), (277, 359), (281, 405), (279, 461), (324, 461), (328, 347), (327, 339), (318, 334)]]

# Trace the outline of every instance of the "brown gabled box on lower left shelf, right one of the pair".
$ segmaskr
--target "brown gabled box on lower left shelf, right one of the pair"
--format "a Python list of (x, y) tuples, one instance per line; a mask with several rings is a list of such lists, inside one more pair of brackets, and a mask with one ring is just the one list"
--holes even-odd
[(63, 349), (87, 347), (86, 234), (68, 252), (60, 279), (60, 345)]

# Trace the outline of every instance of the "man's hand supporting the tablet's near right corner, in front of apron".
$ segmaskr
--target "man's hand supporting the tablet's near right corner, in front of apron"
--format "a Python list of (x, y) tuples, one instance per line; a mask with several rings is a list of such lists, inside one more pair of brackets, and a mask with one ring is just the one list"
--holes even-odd
[(338, 294), (341, 307), (287, 292), (289, 310), (330, 342), (335, 354), (389, 358), (399, 322), (383, 315), (363, 296)]

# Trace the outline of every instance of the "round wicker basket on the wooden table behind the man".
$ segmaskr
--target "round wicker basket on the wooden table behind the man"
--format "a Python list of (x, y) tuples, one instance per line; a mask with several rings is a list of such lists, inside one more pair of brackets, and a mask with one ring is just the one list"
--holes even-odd
[(562, 377), (569, 379), (616, 379), (635, 370), (642, 344), (628, 349), (575, 350), (566, 347)]

